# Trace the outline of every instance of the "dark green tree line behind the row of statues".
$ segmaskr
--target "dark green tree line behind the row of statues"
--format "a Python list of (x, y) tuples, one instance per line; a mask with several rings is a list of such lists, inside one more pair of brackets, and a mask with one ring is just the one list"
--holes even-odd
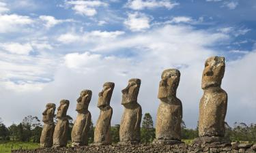
[[(71, 141), (71, 131), (73, 119), (68, 116), (70, 122), (68, 140)], [(57, 119), (55, 118), (55, 122)], [(91, 122), (89, 129), (89, 143), (94, 141), (94, 124)], [(111, 126), (111, 136), (113, 143), (119, 141), (120, 125)], [(250, 141), (256, 142), (256, 124), (246, 125), (245, 123), (235, 122), (233, 127), (225, 124), (225, 137), (231, 141)], [(26, 116), (19, 124), (12, 124), (7, 127), (0, 118), (0, 141), (27, 141), (40, 143), (42, 132), (42, 123), (36, 116)], [(198, 128), (188, 129), (182, 121), (182, 139), (195, 139), (198, 137)], [(152, 116), (149, 113), (144, 114), (141, 125), (141, 143), (151, 143), (155, 138), (155, 129)]]

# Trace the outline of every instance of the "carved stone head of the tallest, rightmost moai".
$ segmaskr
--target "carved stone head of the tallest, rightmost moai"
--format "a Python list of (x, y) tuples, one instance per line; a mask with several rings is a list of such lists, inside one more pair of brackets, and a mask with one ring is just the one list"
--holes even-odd
[(225, 72), (225, 58), (224, 57), (210, 57), (205, 61), (205, 68), (203, 69), (203, 77), (201, 87), (203, 89), (208, 87), (221, 86)]

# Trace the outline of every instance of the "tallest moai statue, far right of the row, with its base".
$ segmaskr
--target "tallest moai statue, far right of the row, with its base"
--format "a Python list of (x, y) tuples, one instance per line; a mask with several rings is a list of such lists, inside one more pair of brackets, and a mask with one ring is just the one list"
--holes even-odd
[(224, 57), (210, 57), (205, 62), (202, 84), (203, 97), (199, 106), (199, 138), (196, 144), (228, 143), (225, 135), (227, 93), (221, 88), (225, 72)]

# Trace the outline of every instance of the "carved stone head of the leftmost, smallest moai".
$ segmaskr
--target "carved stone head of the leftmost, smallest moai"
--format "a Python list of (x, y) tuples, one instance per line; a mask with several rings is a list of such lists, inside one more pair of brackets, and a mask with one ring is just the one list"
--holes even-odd
[(54, 113), (55, 113), (55, 104), (54, 103), (47, 103), (46, 104), (46, 109), (44, 110), (44, 112), (42, 113), (43, 115), (43, 119), (42, 121), (44, 123), (51, 123), (53, 122), (53, 118), (54, 118)]

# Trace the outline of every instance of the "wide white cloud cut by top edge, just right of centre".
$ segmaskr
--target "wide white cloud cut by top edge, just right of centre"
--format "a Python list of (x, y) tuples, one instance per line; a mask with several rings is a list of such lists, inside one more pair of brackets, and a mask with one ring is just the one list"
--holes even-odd
[(172, 9), (179, 3), (174, 3), (170, 0), (128, 0), (126, 7), (129, 7), (132, 10), (144, 10), (144, 9), (153, 9), (156, 7), (166, 7), (167, 9)]

